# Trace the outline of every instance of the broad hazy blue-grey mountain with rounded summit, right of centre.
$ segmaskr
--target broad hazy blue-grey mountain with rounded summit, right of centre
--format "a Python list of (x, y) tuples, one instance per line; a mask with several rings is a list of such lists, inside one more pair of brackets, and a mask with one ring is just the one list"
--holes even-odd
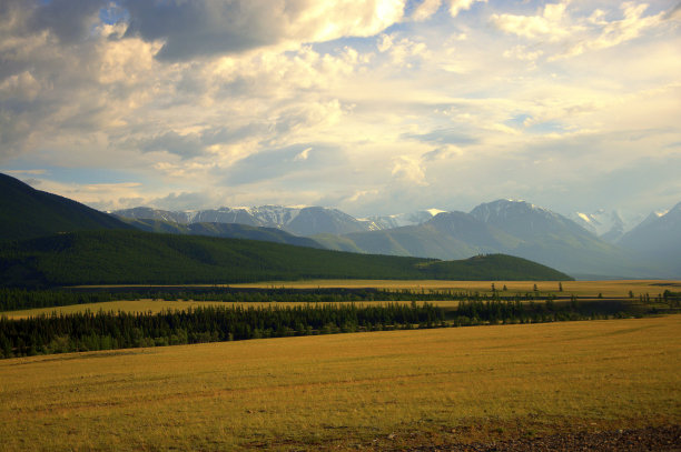
[(417, 224), (335, 237), (313, 235), (329, 249), (464, 259), (511, 254), (582, 279), (668, 277), (654, 260), (642, 261), (568, 218), (525, 201), (500, 199), (465, 212), (442, 212)]

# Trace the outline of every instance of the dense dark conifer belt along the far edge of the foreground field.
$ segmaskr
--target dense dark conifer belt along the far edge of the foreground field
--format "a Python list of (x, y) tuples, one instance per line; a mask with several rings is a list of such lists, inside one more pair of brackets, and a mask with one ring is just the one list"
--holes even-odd
[(430, 303), (290, 307), (209, 307), (152, 313), (82, 312), (20, 320), (0, 317), (0, 356), (159, 346), (288, 335), (330, 334), (487, 323), (536, 323), (634, 314), (626, 304), (463, 301), (445, 310)]

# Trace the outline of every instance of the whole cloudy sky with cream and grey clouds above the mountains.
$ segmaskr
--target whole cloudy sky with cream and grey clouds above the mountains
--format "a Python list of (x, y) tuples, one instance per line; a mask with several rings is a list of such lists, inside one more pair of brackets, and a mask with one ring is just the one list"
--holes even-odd
[(681, 201), (678, 0), (0, 0), (0, 172), (100, 210)]

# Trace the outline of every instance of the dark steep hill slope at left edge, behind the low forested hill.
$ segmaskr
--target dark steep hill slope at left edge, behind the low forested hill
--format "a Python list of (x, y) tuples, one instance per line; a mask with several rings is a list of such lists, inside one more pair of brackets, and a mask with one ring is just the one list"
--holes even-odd
[(1, 173), (0, 214), (0, 240), (23, 240), (89, 229), (130, 229), (111, 215), (70, 199), (36, 190)]

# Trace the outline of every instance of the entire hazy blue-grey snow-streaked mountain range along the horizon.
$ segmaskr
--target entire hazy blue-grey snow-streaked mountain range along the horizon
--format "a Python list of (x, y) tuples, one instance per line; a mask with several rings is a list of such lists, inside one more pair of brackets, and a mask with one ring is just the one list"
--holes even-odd
[[(431, 209), (366, 219), (354, 219), (336, 209), (278, 205), (197, 212), (138, 208), (112, 213), (120, 217), (180, 219), (189, 224), (209, 219), (267, 225), (307, 235), (327, 249), (359, 253), (445, 260), (481, 253), (507, 253), (582, 279), (674, 278), (681, 274), (675, 264), (679, 258), (664, 254), (665, 247), (662, 244), (654, 248), (658, 251), (648, 249), (642, 238), (647, 235), (647, 230), (634, 233), (638, 228), (633, 228), (631, 235), (626, 232), (632, 228), (631, 223), (624, 223), (616, 211), (610, 215), (605, 210), (598, 214), (579, 214), (576, 218), (582, 221), (576, 222), (549, 209), (517, 200), (483, 203), (470, 212)], [(626, 218), (633, 221), (632, 215)], [(662, 217), (653, 214), (648, 222), (658, 218)], [(591, 221), (590, 228), (583, 225), (588, 223), (585, 219)], [(671, 217), (668, 221), (681, 229), (681, 223), (672, 221)], [(681, 242), (675, 237), (668, 240), (670, 243)], [(641, 249), (648, 251), (642, 252)]]

